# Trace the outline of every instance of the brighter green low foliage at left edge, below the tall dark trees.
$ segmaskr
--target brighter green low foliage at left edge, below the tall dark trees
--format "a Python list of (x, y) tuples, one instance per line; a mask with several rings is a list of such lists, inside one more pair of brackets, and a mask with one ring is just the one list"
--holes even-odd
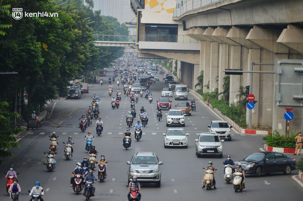
[[(12, 149), (15, 147), (20, 147), (18, 144), (18, 140), (13, 134), (17, 134), (18, 132), (22, 132), (22, 128), (12, 129), (10, 119), (19, 118), (19, 114), (16, 112), (8, 112), (9, 104), (7, 102), (0, 102), (0, 157), (10, 157), (13, 158), (14, 155), (12, 152), (5, 151), (6, 149)], [(0, 160), (0, 164), (3, 161)]]

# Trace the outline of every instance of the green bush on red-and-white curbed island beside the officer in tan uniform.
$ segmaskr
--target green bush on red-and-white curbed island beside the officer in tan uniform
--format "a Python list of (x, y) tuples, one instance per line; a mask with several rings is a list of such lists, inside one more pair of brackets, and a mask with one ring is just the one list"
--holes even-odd
[(273, 133), (270, 133), (267, 136), (263, 137), (263, 140), (265, 140), (265, 143), (263, 144), (267, 144), (270, 147), (295, 148), (295, 137), (297, 135), (297, 133), (291, 132), (291, 135), (280, 136), (280, 134), (274, 130)]

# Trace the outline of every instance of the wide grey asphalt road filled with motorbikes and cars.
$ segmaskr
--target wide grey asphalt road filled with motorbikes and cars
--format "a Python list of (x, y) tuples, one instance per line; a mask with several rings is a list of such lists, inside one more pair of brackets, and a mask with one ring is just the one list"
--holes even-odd
[[(131, 67), (131, 69), (134, 67)], [(111, 74), (112, 68), (108, 68), (108, 75)], [(160, 90), (167, 87), (163, 80), (153, 83), (150, 87), (154, 96), (154, 101), (149, 104), (144, 98), (139, 98), (139, 102), (135, 104), (137, 110), (142, 106), (149, 114), (148, 125), (143, 129), (142, 139), (137, 142), (132, 141), (132, 146), (125, 150), (122, 147), (122, 134), (126, 131), (125, 116), (130, 109), (130, 98), (122, 94), (122, 101), (118, 109), (112, 109), (108, 96), (108, 76), (103, 78), (106, 83), (100, 86), (99, 83), (89, 85), (89, 93), (82, 95), (80, 100), (56, 100), (50, 104), (46, 110), (51, 113), (51, 116), (42, 123), (39, 130), (29, 130), (20, 139), (21, 148), (12, 150), (15, 158), (6, 158), (4, 164), (0, 166), (2, 172), (2, 193), (1, 200), (9, 200), (5, 193), (6, 179), (3, 172), (7, 172), (10, 164), (15, 165), (15, 171), (19, 172), (18, 179), (22, 189), (20, 200), (29, 199), (27, 190), (30, 190), (35, 181), (40, 181), (41, 186), (45, 190), (45, 200), (84, 200), (82, 194), (76, 195), (70, 188), (71, 172), (76, 167), (76, 162), (81, 162), (83, 157), (87, 156), (85, 151), (84, 137), (88, 131), (91, 131), (95, 136), (93, 145), (100, 155), (104, 154), (108, 161), (107, 174), (108, 177), (104, 183), (95, 184), (95, 197), (91, 200), (127, 200), (127, 171), (128, 165), (126, 161), (132, 158), (132, 155), (137, 151), (153, 151), (156, 152), (161, 165), (162, 178), (161, 187), (156, 188), (155, 184), (142, 184), (142, 200), (301, 200), (302, 187), (295, 182), (291, 176), (297, 174), (293, 171), (291, 175), (283, 173), (275, 173), (262, 175), (257, 178), (254, 175), (246, 175), (246, 188), (243, 192), (235, 193), (232, 184), (227, 184), (223, 180), (222, 162), (227, 155), (231, 155), (234, 161), (241, 160), (253, 152), (259, 152), (263, 147), (262, 137), (260, 135), (240, 135), (236, 132), (232, 134), (231, 142), (223, 143), (223, 158), (204, 157), (197, 158), (195, 155), (195, 139), (200, 132), (206, 132), (207, 126), (211, 120), (220, 120), (208, 107), (198, 100), (193, 94), (189, 94), (189, 100), (195, 98), (197, 110), (192, 116), (185, 116), (186, 126), (185, 132), (189, 133), (188, 148), (164, 148), (163, 133), (167, 127), (165, 125), (165, 113), (163, 119), (158, 122), (156, 119), (155, 110), (157, 102), (161, 97)], [(122, 89), (113, 83), (114, 91), (118, 88)], [(78, 129), (78, 118), (81, 114), (86, 113), (85, 110), (92, 102), (92, 95), (96, 93), (101, 99), (100, 113), (104, 123), (104, 130), (101, 136), (96, 136), (94, 123), (89, 126), (86, 132), (81, 132)], [(115, 93), (114, 93), (115, 94)], [(176, 105), (176, 101), (172, 98), (172, 105)], [(137, 115), (138, 116), (138, 115)], [(137, 121), (136, 118), (134, 121)], [(49, 173), (46, 167), (42, 164), (45, 160), (43, 152), (46, 152), (49, 147), (49, 137), (51, 132), (55, 131), (59, 136), (59, 148), (56, 155), (57, 167)], [(131, 129), (133, 133), (133, 129)], [(72, 136), (75, 142), (74, 155), (70, 161), (64, 158), (64, 146), (62, 142)], [(299, 158), (298, 158), (299, 159)], [(217, 168), (215, 173), (217, 189), (201, 189), (201, 180), (204, 177), (202, 167), (208, 165), (208, 161), (213, 161), (213, 165)], [(94, 174), (97, 174), (94, 170)], [(269, 184), (270, 183), (270, 184)]]

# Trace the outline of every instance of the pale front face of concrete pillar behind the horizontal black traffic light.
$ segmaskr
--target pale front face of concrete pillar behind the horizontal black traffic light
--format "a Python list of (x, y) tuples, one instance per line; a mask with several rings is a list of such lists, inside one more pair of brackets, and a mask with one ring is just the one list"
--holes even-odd
[[(230, 68), (241, 69), (241, 46), (231, 45)], [(242, 75), (230, 75), (229, 102), (237, 102), (236, 95), (240, 88)]]

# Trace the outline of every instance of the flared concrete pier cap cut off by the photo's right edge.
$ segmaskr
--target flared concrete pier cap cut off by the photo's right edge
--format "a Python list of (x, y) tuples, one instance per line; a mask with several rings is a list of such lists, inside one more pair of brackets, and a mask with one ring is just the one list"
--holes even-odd
[(277, 43), (303, 54), (303, 29), (288, 25), (287, 29), (283, 29)]

